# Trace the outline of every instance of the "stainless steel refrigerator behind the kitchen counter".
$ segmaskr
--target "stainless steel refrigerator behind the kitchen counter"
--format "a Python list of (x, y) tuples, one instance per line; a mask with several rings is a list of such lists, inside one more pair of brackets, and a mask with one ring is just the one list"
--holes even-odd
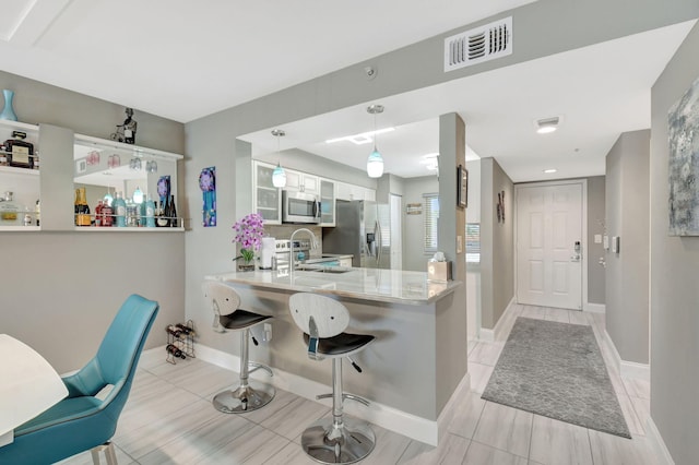
[(352, 254), (352, 266), (391, 267), (389, 205), (337, 200), (335, 227), (323, 228), (323, 253)]

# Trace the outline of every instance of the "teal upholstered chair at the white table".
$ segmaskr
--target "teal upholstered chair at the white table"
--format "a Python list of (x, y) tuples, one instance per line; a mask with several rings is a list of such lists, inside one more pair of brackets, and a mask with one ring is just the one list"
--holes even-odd
[[(51, 464), (86, 450), (99, 463), (116, 464), (109, 442), (131, 390), (137, 363), (158, 303), (130, 296), (107, 330), (97, 355), (75, 374), (63, 378), (68, 396), (14, 430), (14, 442), (0, 448), (0, 464)], [(97, 393), (111, 385), (99, 400)], [(104, 393), (103, 393), (104, 395)], [(102, 396), (100, 396), (102, 397)]]

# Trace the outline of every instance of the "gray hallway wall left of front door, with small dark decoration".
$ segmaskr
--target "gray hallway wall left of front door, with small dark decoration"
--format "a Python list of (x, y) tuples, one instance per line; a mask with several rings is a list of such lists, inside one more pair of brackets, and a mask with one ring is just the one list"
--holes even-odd
[[(498, 192), (505, 191), (505, 223)], [(514, 186), (495, 158), (481, 159), (481, 326), (493, 330), (514, 297)]]

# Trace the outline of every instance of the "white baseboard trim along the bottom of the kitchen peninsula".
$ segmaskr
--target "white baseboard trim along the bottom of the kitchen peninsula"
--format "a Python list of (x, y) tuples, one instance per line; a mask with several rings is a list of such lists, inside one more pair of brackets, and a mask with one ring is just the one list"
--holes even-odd
[[(214, 349), (201, 344), (197, 345), (197, 358), (206, 361), (218, 367), (238, 371), (240, 368), (240, 357), (227, 354), (218, 349)], [(301, 378), (297, 374), (286, 372), (279, 368), (274, 368), (274, 377), (270, 378), (263, 372), (254, 372), (250, 374), (260, 381), (269, 382), (273, 386), (288, 391), (298, 396), (305, 397), (309, 401), (318, 402), (328, 407), (332, 406), (331, 400), (316, 400), (316, 395), (324, 394), (332, 390), (329, 385)], [(467, 384), (471, 385), (470, 375), (466, 373)], [(462, 389), (464, 380), (461, 380), (457, 391)], [(449, 403), (453, 400), (450, 398)], [(449, 405), (448, 403), (448, 405)], [(448, 406), (445, 407), (442, 413), (447, 412)], [(407, 414), (399, 410), (398, 408), (390, 407), (388, 405), (380, 404), (378, 402), (371, 402), (369, 407), (358, 405), (358, 403), (347, 403), (344, 406), (347, 414), (362, 418), (365, 421), (369, 421), (374, 425), (378, 425), (381, 428), (386, 428), (391, 431), (395, 431), (399, 434), (403, 434), (419, 442), (424, 442), (429, 445), (437, 446), (439, 443), (439, 425), (438, 421), (428, 420), (426, 418), (418, 417), (416, 415)]]

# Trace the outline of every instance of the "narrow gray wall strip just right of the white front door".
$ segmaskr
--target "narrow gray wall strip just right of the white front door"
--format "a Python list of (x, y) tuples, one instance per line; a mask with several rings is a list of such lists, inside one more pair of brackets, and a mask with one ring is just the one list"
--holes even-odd
[(599, 263), (604, 258), (602, 243), (594, 243), (595, 235), (604, 235), (605, 177), (588, 178), (588, 302), (605, 302), (605, 269)]

